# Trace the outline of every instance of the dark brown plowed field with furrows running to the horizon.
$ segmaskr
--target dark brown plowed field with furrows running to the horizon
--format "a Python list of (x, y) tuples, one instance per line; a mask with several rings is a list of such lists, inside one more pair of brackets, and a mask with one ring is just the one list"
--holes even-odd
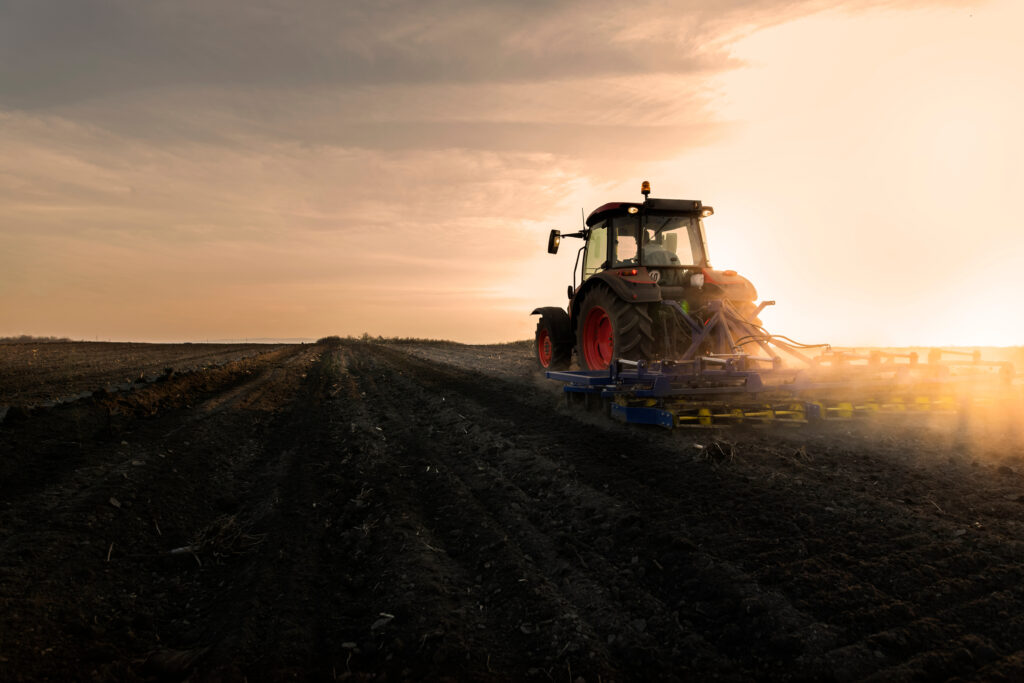
[(1013, 423), (631, 427), (524, 345), (189, 362), (7, 411), (0, 680), (1024, 678)]

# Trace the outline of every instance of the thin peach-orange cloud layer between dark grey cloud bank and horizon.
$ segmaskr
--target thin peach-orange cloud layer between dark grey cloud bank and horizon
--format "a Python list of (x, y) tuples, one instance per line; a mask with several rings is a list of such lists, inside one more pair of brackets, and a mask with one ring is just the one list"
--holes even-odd
[[(397, 302), (454, 310), (499, 296), (583, 171), (542, 153), (236, 142), (0, 116), (4, 325), (89, 338), (399, 334), (429, 316), (396, 323)], [(465, 338), (455, 317), (446, 336)]]

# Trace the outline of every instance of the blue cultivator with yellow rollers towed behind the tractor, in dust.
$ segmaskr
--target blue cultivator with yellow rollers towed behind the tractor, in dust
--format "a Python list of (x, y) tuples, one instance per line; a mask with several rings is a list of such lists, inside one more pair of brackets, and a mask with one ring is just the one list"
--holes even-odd
[[(613, 419), (667, 428), (808, 423), (880, 413), (951, 413), (982, 396), (1021, 398), (1006, 362), (944, 364), (940, 354), (828, 350), (805, 367), (743, 353), (684, 360), (624, 360), (606, 370), (550, 371), (566, 398), (600, 400)], [(768, 361), (767, 364), (765, 361)], [(768, 365), (768, 367), (765, 367)], [(965, 367), (968, 368), (965, 371)]]

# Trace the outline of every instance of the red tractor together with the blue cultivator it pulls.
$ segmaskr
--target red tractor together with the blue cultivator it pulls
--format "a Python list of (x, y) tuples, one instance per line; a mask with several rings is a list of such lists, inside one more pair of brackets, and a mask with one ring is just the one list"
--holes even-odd
[[(566, 402), (606, 407), (623, 422), (663, 427), (809, 423), (879, 414), (938, 415), (987, 405), (1024, 405), (1020, 377), (1006, 361), (943, 359), (964, 351), (837, 349), (803, 344), (761, 327), (765, 306), (734, 270), (708, 261), (694, 200), (613, 202), (579, 232), (569, 303), (536, 308), (537, 360), (564, 383)], [(577, 281), (579, 280), (579, 284)], [(816, 349), (813, 350), (812, 349)], [(568, 370), (572, 354), (580, 370)]]

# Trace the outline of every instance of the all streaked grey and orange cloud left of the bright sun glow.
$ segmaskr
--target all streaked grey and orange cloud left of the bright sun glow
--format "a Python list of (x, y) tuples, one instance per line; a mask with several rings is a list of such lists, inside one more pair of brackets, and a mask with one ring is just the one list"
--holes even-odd
[(548, 227), (730, 134), (737, 36), (831, 5), (0, 0), (0, 333), (495, 339)]

